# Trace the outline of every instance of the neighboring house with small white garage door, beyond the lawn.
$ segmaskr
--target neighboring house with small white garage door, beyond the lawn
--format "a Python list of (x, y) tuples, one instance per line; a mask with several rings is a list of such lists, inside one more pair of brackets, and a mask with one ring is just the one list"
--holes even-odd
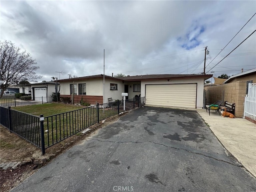
[[(31, 95), (32, 99), (38, 97), (50, 97), (52, 93), (55, 93), (55, 85), (56, 82), (40, 82), (40, 83), (32, 83), (31, 85)], [(58, 83), (58, 90), (59, 90), (59, 83)]]

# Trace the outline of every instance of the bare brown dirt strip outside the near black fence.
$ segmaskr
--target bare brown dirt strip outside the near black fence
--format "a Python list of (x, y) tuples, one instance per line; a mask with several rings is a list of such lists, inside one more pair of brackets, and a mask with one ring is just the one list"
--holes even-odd
[(46, 154), (42, 156), (41, 150), (20, 138), (4, 127), (0, 126), (0, 162), (26, 162), (26, 164), (17, 167), (15, 170), (0, 170), (0, 191), (8, 192), (12, 188), (18, 186), (28, 176), (34, 174), (41, 166), (47, 164), (70, 147), (79, 144), (88, 136), (95, 134), (95, 131), (112, 124), (118, 120), (119, 116), (115, 115), (105, 120), (104, 123), (90, 126), (91, 131), (86, 134), (81, 132), (65, 139), (46, 149)]

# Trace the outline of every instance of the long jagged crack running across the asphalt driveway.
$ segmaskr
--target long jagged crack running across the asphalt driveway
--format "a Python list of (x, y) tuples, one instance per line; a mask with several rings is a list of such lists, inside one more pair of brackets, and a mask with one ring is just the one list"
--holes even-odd
[(237, 166), (237, 167), (244, 167), (240, 163), (228, 162), (228, 161), (225, 161), (225, 160), (214, 158), (214, 157), (206, 155), (206, 154), (202, 154), (202, 153), (198, 153), (198, 152), (193, 152), (193, 151), (190, 151), (190, 150), (187, 150), (187, 149), (184, 149), (184, 148), (176, 148), (176, 147), (172, 147), (172, 146), (167, 146), (167, 145), (160, 144), (160, 143), (157, 143), (157, 142), (154, 142), (154, 141), (148, 141), (148, 140), (144, 140), (144, 141), (109, 141), (109, 140), (100, 140), (100, 139), (90, 139), (90, 140), (97, 140), (97, 141), (100, 141), (100, 142), (112, 142), (112, 143), (128, 143), (128, 144), (129, 143), (148, 143), (149, 142), (149, 143), (154, 143), (154, 144), (161, 145), (161, 146), (164, 146), (164, 147), (167, 147), (167, 148), (172, 148), (172, 149), (176, 149), (176, 150), (184, 150), (184, 151), (187, 151), (187, 152), (190, 152), (190, 153), (193, 153), (193, 154), (202, 155), (202, 156), (205, 156), (205, 157), (208, 157), (208, 158), (212, 158), (212, 159), (220, 161), (220, 162), (225, 162), (225, 163)]

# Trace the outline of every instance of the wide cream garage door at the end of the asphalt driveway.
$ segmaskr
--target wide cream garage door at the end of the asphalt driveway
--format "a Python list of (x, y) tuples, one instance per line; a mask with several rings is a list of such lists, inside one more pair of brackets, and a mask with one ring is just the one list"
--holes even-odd
[(146, 105), (196, 108), (197, 84), (146, 85)]

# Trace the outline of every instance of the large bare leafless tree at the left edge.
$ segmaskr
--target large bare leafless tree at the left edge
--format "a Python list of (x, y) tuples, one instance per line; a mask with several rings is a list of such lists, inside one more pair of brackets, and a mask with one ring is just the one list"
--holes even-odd
[(34, 81), (41, 76), (36, 75), (39, 66), (36, 66), (36, 61), (29, 53), (21, 51), (10, 41), (0, 41), (0, 45), (0, 80), (4, 81), (0, 84), (1, 98), (9, 86), (24, 79)]

